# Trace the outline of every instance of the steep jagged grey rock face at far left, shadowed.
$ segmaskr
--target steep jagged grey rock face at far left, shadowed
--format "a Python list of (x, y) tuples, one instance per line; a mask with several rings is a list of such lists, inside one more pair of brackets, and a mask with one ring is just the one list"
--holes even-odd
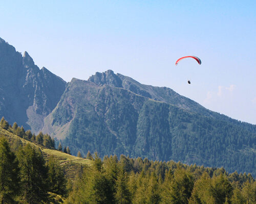
[(39, 69), (27, 52), (22, 56), (1, 38), (0, 73), (0, 115), (9, 123), (40, 131), (66, 82), (45, 67)]

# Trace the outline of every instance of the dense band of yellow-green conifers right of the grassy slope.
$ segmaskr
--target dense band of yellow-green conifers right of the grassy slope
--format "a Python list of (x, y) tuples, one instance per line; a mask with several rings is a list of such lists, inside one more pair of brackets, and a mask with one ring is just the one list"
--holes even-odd
[(66, 203), (247, 204), (256, 203), (251, 174), (224, 168), (95, 155), (84, 167)]

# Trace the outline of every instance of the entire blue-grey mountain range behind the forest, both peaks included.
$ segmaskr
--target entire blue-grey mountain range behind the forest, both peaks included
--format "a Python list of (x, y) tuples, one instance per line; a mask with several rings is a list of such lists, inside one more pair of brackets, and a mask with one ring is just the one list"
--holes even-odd
[(39, 69), (27, 53), (22, 57), (3, 40), (0, 44), (0, 71), (5, 74), (0, 114), (9, 122), (51, 134), (72, 154), (124, 154), (223, 166), (256, 176), (256, 125), (112, 70), (66, 83)]

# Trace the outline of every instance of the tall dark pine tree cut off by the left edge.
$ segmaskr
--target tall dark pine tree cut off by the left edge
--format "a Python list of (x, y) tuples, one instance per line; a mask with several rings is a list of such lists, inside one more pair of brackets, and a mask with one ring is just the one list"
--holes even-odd
[(0, 203), (14, 203), (19, 189), (16, 157), (6, 138), (0, 137)]

